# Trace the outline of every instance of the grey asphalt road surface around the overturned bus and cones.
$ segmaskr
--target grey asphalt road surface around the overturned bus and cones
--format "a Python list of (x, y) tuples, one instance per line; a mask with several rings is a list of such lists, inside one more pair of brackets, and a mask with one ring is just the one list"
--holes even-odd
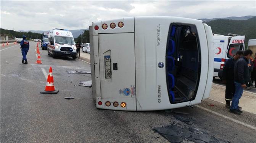
[[(92, 89), (78, 86), (79, 82), (90, 80), (90, 75), (66, 72), (90, 71), (88, 63), (72, 58), (53, 59), (40, 49), (42, 64), (35, 64), (36, 42), (30, 45), (27, 65), (21, 63), (18, 45), (0, 48), (3, 143), (165, 143), (169, 141), (153, 128), (169, 125), (193, 128), (224, 142), (256, 142), (256, 115), (234, 115), (224, 104), (210, 99), (171, 113), (99, 110), (92, 100)], [(46, 83), (43, 71), (48, 74), (50, 66), (60, 92), (40, 94)], [(66, 96), (75, 99), (64, 99)]]

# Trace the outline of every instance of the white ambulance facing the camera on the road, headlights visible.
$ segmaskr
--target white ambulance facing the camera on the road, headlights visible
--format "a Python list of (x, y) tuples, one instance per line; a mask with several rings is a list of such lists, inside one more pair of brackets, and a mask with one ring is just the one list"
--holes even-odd
[(52, 55), (53, 58), (63, 56), (76, 59), (76, 44), (69, 30), (58, 28), (50, 30), (47, 47), (48, 55)]

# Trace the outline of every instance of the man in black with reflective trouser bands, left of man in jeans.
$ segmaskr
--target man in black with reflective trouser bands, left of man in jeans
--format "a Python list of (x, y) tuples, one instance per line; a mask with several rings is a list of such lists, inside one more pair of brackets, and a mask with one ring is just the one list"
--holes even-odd
[(243, 50), (238, 50), (233, 57), (226, 60), (225, 65), (223, 67), (222, 79), (226, 84), (225, 101), (226, 101), (227, 108), (231, 107), (230, 101), (232, 101), (232, 98), (235, 94), (234, 66), (238, 58), (242, 56), (243, 56)]

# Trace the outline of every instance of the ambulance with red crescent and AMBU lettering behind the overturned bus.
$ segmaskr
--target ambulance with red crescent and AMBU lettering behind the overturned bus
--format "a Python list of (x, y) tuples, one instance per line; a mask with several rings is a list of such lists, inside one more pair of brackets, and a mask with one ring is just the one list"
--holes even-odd
[(222, 79), (225, 61), (235, 55), (238, 50), (245, 49), (245, 36), (237, 34), (213, 34), (214, 40), (214, 77)]

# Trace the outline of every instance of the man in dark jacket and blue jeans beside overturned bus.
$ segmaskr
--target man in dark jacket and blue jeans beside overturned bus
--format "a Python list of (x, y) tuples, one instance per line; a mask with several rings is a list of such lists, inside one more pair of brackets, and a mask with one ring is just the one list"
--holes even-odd
[(242, 97), (243, 88), (246, 88), (246, 82), (249, 80), (248, 60), (250, 60), (253, 51), (245, 50), (243, 57), (237, 60), (234, 67), (235, 95), (229, 112), (240, 115), (242, 111), (238, 108), (239, 99)]

